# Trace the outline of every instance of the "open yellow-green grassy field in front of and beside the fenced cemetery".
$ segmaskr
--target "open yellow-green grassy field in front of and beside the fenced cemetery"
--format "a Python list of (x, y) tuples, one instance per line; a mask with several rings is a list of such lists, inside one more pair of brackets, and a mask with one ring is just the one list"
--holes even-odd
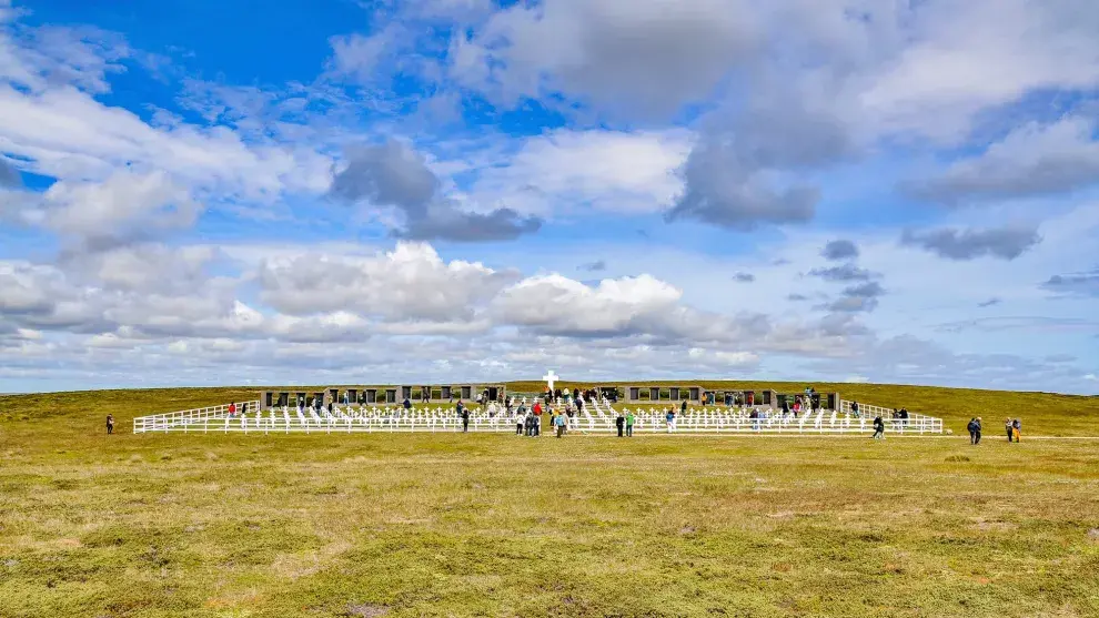
[(1099, 616), (1099, 442), (101, 429), (242, 397), (0, 397), (0, 616)]

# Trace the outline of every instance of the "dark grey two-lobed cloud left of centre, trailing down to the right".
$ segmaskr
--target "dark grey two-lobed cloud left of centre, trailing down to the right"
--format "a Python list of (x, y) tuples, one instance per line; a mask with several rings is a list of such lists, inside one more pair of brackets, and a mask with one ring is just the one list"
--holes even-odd
[(458, 210), (454, 201), (438, 194), (440, 184), (422, 154), (389, 141), (352, 150), (330, 193), (347, 202), (401, 210), (405, 229), (395, 234), (412, 240), (514, 240), (542, 226), (542, 220), (524, 217), (507, 207), (488, 213)]

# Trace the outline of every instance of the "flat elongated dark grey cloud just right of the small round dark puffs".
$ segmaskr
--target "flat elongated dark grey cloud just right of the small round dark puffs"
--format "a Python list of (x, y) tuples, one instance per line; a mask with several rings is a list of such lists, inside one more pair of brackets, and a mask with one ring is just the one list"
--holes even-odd
[(1015, 260), (1041, 242), (1034, 227), (1006, 226), (957, 230), (906, 230), (900, 244), (916, 246), (947, 260), (999, 257)]

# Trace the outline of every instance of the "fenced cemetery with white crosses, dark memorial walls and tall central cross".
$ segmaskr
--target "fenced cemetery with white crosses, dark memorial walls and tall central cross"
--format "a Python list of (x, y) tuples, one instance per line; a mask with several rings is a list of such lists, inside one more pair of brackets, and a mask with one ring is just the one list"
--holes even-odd
[[(504, 384), (427, 386), (329, 386), (321, 389), (263, 391), (258, 399), (142, 415), (133, 433), (354, 434), (375, 432), (514, 433), (535, 401), (552, 414), (567, 416), (567, 430), (612, 434), (619, 415), (633, 414), (638, 434), (859, 435), (875, 430), (880, 416), (901, 436), (942, 434), (942, 419), (922, 414), (899, 417), (896, 411), (840, 398), (839, 393), (777, 393), (774, 389), (707, 389), (692, 385), (596, 385), (573, 393), (554, 388), (548, 372), (543, 395), (508, 397)], [(624, 398), (619, 399), (619, 396)], [(480, 396), (480, 402), (476, 401)], [(468, 423), (458, 415), (462, 402)], [(804, 404), (804, 408), (803, 408)], [(683, 406), (687, 406), (684, 408)], [(672, 411), (675, 422), (669, 423)], [(547, 430), (545, 427), (544, 430)]]

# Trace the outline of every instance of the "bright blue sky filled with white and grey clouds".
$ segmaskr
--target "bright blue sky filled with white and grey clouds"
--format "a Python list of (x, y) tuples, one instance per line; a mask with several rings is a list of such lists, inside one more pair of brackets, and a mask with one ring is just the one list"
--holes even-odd
[(0, 0), (0, 392), (1099, 392), (1093, 0)]

